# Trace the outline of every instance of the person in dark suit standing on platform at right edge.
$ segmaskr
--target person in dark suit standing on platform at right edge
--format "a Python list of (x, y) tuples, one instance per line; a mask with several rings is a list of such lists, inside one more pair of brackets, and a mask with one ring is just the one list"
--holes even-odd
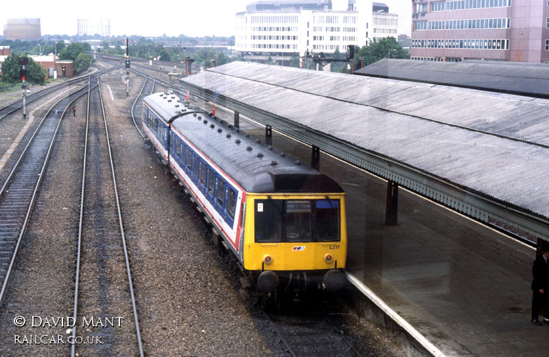
[(544, 322), (549, 324), (549, 244), (541, 246), (541, 255), (532, 266), (532, 323), (541, 326), (539, 309), (545, 305)]

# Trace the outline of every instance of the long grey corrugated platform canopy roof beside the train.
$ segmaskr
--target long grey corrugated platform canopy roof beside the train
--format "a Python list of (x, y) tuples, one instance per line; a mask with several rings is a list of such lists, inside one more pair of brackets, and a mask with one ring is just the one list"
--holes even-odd
[(549, 240), (549, 102), (232, 62), (181, 87), (473, 218)]

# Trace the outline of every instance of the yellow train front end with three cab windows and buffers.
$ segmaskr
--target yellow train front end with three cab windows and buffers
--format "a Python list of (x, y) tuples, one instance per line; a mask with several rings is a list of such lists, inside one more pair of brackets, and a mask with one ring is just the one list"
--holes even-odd
[(341, 288), (347, 258), (344, 202), (342, 192), (248, 194), (244, 268), (263, 292), (296, 284)]

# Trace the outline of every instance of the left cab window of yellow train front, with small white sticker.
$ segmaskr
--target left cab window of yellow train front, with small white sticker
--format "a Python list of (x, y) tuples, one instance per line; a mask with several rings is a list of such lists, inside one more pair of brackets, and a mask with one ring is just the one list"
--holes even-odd
[(283, 200), (255, 200), (255, 242), (282, 242)]

